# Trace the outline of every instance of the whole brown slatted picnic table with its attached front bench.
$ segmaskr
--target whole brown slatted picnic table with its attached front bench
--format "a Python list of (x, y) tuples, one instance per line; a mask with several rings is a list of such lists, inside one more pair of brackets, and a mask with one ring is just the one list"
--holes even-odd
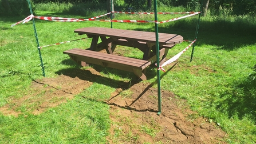
[[(64, 51), (74, 61), (85, 66), (93, 63), (105, 67), (130, 71), (145, 80), (145, 68), (156, 62), (156, 38), (154, 32), (111, 29), (105, 27), (84, 27), (74, 30), (78, 35), (86, 34), (92, 38), (90, 47), (86, 50), (72, 49)], [(99, 38), (101, 41), (99, 41)], [(183, 37), (178, 34), (159, 33), (159, 58), (160, 63), (166, 59), (168, 50), (176, 44), (183, 42)], [(117, 45), (135, 47), (143, 52), (141, 59), (114, 55)], [(106, 50), (107, 53), (99, 51)]]

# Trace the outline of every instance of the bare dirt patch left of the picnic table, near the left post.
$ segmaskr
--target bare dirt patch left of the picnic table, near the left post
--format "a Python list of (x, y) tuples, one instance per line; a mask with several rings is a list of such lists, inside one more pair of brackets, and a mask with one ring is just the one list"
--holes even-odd
[(9, 104), (0, 107), (4, 115), (18, 117), (21, 113), (41, 114), (50, 107), (56, 107), (82, 90), (92, 85), (92, 82), (60, 75), (57, 78), (43, 78), (32, 82), (31, 94), (22, 98), (9, 98)]

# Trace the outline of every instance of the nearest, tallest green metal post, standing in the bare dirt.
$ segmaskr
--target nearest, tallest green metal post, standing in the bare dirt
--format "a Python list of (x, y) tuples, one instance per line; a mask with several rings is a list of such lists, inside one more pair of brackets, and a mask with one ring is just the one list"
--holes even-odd
[[(154, 1), (154, 10), (155, 10), (155, 21), (157, 22), (157, 6), (156, 0)], [(157, 64), (157, 91), (158, 91), (158, 113), (160, 115), (162, 110), (162, 102), (161, 102), (161, 87), (160, 87), (160, 69), (159, 69), (159, 35), (158, 35), (158, 24), (155, 23), (155, 34), (156, 34), (156, 64)]]

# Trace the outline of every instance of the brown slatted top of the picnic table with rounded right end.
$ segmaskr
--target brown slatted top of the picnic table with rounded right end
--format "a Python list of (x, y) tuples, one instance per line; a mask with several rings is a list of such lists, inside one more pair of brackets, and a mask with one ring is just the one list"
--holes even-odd
[[(111, 29), (106, 27), (84, 27), (74, 30), (74, 33), (98, 35), (116, 39), (127, 39), (128, 41), (141, 41), (148, 43), (156, 42), (155, 32)], [(183, 42), (183, 37), (178, 34), (158, 33), (160, 45), (175, 45)]]

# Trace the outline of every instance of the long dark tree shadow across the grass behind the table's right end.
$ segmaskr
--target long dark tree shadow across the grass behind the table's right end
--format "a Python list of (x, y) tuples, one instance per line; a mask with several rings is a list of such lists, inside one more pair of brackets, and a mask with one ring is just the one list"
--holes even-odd
[[(197, 20), (179, 20), (169, 22), (170, 25), (159, 24), (159, 33), (182, 35), (184, 40), (194, 40)], [(219, 49), (235, 50), (245, 45), (256, 44), (256, 28), (246, 22), (200, 21), (196, 45), (215, 45)], [(135, 29), (139, 31), (155, 31), (152, 25), (149, 29)]]

